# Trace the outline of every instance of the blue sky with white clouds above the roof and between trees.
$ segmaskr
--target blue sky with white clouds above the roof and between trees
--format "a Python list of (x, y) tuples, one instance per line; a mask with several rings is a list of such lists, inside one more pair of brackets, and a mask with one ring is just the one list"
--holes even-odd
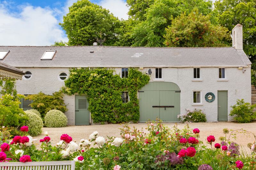
[[(68, 41), (59, 26), (68, 7), (77, 0), (0, 0), (0, 45), (51, 45)], [(91, 0), (127, 19), (125, 0)]]

